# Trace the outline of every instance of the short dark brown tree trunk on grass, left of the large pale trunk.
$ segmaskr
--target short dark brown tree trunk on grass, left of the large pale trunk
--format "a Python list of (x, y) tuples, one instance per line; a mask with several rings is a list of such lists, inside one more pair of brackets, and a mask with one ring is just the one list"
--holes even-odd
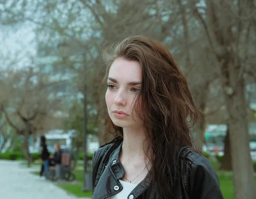
[(229, 125), (227, 125), (227, 134), (224, 139), (224, 156), (222, 158), (221, 170), (232, 171), (232, 158), (231, 158), (231, 148), (230, 148), (230, 131)]

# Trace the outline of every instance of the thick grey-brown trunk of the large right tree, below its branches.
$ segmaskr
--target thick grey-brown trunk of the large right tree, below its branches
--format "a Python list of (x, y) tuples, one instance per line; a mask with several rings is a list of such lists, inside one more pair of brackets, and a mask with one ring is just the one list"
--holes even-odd
[(244, 80), (239, 77), (240, 70), (241, 67), (235, 65), (230, 59), (222, 60), (221, 82), (230, 127), (234, 199), (255, 199), (255, 180), (249, 148)]

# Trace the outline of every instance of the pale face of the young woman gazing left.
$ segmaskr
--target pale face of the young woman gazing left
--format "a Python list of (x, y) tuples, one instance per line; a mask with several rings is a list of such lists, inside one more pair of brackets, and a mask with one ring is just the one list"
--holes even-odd
[(106, 103), (112, 122), (128, 128), (142, 125), (134, 105), (141, 87), (141, 65), (136, 61), (116, 59), (109, 70)]

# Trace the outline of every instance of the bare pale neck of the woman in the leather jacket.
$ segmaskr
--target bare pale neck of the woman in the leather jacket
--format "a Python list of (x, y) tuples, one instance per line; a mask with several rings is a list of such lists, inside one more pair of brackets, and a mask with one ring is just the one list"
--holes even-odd
[(143, 129), (123, 128), (123, 143), (120, 159), (124, 162), (141, 162), (145, 159), (143, 145), (145, 134)]

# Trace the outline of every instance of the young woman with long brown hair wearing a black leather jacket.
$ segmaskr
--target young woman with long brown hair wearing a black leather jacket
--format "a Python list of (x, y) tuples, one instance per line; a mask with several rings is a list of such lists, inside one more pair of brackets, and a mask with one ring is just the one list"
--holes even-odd
[(201, 112), (168, 49), (129, 37), (105, 60), (116, 137), (93, 156), (92, 199), (223, 199), (214, 169), (193, 149)]

